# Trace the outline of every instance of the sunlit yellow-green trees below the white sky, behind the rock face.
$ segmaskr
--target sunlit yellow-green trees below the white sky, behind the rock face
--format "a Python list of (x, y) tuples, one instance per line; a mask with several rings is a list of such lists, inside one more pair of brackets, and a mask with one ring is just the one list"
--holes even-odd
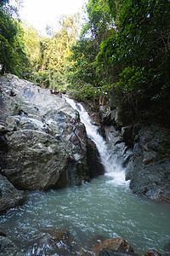
[(34, 60), (31, 60), (36, 72), (31, 74), (31, 79), (35, 78), (34, 82), (46, 88), (61, 89), (61, 85), (65, 87), (65, 73), (69, 66), (67, 62), (71, 55), (71, 45), (77, 40), (78, 22), (79, 15), (61, 17), (59, 32), (51, 33), (51, 27), (47, 26), (48, 36), (50, 36), (48, 38), (38, 38), (35, 30), (25, 29), (27, 54), (31, 56), (31, 59), (35, 56)]

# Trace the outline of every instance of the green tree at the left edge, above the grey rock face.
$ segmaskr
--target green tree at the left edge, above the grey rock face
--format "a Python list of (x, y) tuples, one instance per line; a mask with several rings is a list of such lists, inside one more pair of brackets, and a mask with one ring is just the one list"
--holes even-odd
[[(12, 17), (13, 9), (5, 6), (3, 1), (0, 7), (0, 64), (2, 73), (14, 73), (19, 76), (26, 74), (29, 60), (26, 56), (23, 40), (23, 30), (20, 23)], [(5, 8), (3, 8), (5, 6)]]

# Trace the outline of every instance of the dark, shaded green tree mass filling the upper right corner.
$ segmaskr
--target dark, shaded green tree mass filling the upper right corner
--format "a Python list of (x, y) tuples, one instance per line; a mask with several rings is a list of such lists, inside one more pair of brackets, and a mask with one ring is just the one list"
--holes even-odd
[(105, 80), (112, 80), (106, 87), (121, 94), (122, 102), (135, 112), (152, 108), (155, 102), (161, 113), (167, 112), (170, 103), (169, 9), (167, 0), (128, 0), (119, 18), (119, 31), (101, 45), (99, 68), (110, 67), (114, 74), (105, 72)]

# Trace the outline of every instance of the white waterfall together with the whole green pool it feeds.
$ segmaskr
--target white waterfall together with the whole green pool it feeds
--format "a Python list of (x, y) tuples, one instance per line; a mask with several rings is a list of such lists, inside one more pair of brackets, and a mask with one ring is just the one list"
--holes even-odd
[[(66, 101), (79, 111), (88, 137), (96, 143), (105, 175), (80, 187), (29, 192), (24, 206), (0, 216), (1, 230), (27, 256), (78, 255), (88, 241), (117, 236), (127, 240), (135, 253), (156, 249), (168, 255), (164, 246), (170, 242), (169, 204), (134, 195), (124, 169), (116, 155), (110, 154), (88, 113), (79, 103)], [(70, 231), (68, 244), (54, 244), (52, 235), (59, 227)]]

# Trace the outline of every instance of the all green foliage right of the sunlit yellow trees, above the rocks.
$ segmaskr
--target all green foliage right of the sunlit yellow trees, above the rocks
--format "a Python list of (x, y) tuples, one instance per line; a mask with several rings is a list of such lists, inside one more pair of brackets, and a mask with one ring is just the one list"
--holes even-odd
[(148, 109), (167, 113), (170, 2), (90, 0), (87, 12), (88, 23), (72, 49), (75, 95), (114, 97), (138, 116)]

